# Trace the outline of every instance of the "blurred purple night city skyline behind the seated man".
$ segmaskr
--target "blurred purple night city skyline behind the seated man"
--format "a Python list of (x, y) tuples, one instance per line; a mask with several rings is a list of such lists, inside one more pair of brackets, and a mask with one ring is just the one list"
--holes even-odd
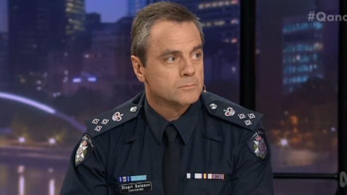
[[(16, 172), (17, 165), (18, 169), (25, 166), (28, 170), (18, 172), (19, 181), (22, 176), (41, 173), (53, 177), (59, 187), (63, 171), (58, 174), (52, 170), (65, 169), (64, 162), (81, 136), (73, 124), (83, 124), (84, 119), (112, 109), (143, 90), (131, 68), (130, 28), (133, 14), (155, 0), (34, 1), (36, 4), (11, 0), (11, 7), (2, 6), (6, 1), (0, 0), (0, 31), (7, 25), (7, 18), (3, 19), (7, 9), (12, 13), (12, 25), (11, 32), (0, 33), (0, 107), (6, 110), (0, 117), (0, 144), (5, 146), (0, 145), (0, 155), (9, 152), (10, 158), (3, 158), (3, 162), (0, 158), (0, 172), (9, 167), (4, 178), (17, 186), (18, 178), (11, 173)], [(241, 0), (172, 1), (201, 18), (206, 38), (207, 91), (238, 103)], [(39, 11), (33, 14), (35, 7)], [(337, 13), (338, 2), (257, 1), (256, 110), (264, 114), (275, 172), (337, 170), (338, 25), (308, 21), (307, 13), (318, 9)], [(91, 12), (97, 14), (86, 14)], [(2, 96), (7, 98), (1, 98), (1, 83), (6, 93)], [(23, 105), (23, 99), (11, 101), (8, 97), (14, 95), (59, 112), (47, 114)], [(31, 147), (51, 156), (41, 155), (42, 162), (37, 164), (36, 159), (25, 157), (31, 154)], [(24, 164), (22, 156), (28, 159)], [(56, 157), (61, 163), (50, 160)], [(50, 167), (48, 171), (33, 168), (35, 163)], [(13, 190), (6, 182), (0, 180), (0, 194)], [(335, 188), (334, 184), (313, 182), (294, 189), (293, 182), (276, 182), (277, 191), (285, 192), (283, 195), (297, 195), (294, 191), (298, 190), (302, 195), (326, 195)], [(27, 179), (26, 185), (36, 183)], [(51, 183), (48, 186), (51, 189)]]

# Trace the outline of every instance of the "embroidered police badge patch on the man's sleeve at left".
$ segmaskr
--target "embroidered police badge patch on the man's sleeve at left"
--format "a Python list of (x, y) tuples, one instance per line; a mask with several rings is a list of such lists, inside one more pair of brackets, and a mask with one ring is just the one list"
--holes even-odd
[(94, 145), (91, 141), (90, 136), (87, 133), (85, 133), (82, 136), (80, 146), (76, 151), (75, 166), (78, 166), (87, 159), (89, 154), (92, 152), (93, 147)]

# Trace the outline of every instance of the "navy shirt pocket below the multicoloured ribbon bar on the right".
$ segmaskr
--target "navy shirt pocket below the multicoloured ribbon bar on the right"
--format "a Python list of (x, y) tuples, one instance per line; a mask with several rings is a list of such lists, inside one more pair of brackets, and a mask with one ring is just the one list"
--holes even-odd
[(186, 179), (183, 195), (230, 195), (231, 179)]

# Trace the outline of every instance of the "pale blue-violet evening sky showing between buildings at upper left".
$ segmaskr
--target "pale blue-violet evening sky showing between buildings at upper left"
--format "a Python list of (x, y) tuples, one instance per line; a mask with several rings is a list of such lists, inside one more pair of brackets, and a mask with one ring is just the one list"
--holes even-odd
[[(127, 13), (127, 0), (86, 0), (86, 11), (101, 14), (103, 22), (115, 22)], [(0, 0), (0, 32), (7, 31), (7, 0)]]

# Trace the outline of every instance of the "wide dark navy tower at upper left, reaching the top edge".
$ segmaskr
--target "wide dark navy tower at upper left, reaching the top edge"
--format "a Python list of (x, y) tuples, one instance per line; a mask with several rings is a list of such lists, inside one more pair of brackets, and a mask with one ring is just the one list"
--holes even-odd
[(8, 1), (9, 71), (19, 75), (47, 67), (50, 27), (48, 1)]

